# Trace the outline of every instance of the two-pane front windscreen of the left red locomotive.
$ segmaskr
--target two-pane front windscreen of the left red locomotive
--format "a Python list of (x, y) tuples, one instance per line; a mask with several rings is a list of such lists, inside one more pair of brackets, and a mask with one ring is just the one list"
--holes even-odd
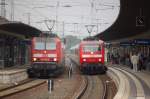
[(51, 38), (36, 38), (34, 49), (38, 50), (55, 50), (56, 42)]

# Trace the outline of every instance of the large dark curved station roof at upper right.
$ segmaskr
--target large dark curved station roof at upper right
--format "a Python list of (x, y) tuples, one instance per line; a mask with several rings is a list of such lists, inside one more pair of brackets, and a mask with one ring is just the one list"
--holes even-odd
[(113, 41), (147, 33), (150, 30), (148, 2), (148, 0), (120, 0), (120, 14), (116, 22), (95, 37)]

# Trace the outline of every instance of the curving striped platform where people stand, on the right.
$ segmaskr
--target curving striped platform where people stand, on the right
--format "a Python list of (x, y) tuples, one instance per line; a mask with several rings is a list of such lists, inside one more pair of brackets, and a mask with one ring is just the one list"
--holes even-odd
[[(135, 72), (130, 67), (120, 64), (106, 64), (106, 65), (108, 66), (110, 71), (111, 70), (116, 71), (116, 74), (122, 75), (119, 78), (118, 86), (120, 87), (118, 88), (121, 90), (118, 90), (118, 93), (122, 94), (123, 92), (125, 92), (127, 98), (121, 99), (129, 99), (129, 98), (150, 99), (150, 72), (145, 70)], [(118, 79), (116, 78), (115, 81), (118, 82)], [(120, 94), (118, 94), (118, 96), (119, 95)], [(124, 94), (122, 95), (124, 96)]]

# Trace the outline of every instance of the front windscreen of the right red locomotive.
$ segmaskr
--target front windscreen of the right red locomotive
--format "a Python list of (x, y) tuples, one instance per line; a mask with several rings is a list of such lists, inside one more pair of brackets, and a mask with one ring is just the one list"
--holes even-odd
[(100, 45), (83, 45), (83, 52), (96, 52), (96, 51), (100, 51), (101, 47)]

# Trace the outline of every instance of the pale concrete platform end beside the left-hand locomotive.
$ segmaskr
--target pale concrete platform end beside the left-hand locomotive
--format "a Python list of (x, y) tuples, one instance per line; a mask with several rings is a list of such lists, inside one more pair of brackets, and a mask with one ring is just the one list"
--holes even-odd
[(29, 65), (14, 66), (10, 68), (0, 69), (0, 84), (11, 85), (16, 84), (28, 78), (27, 68)]

